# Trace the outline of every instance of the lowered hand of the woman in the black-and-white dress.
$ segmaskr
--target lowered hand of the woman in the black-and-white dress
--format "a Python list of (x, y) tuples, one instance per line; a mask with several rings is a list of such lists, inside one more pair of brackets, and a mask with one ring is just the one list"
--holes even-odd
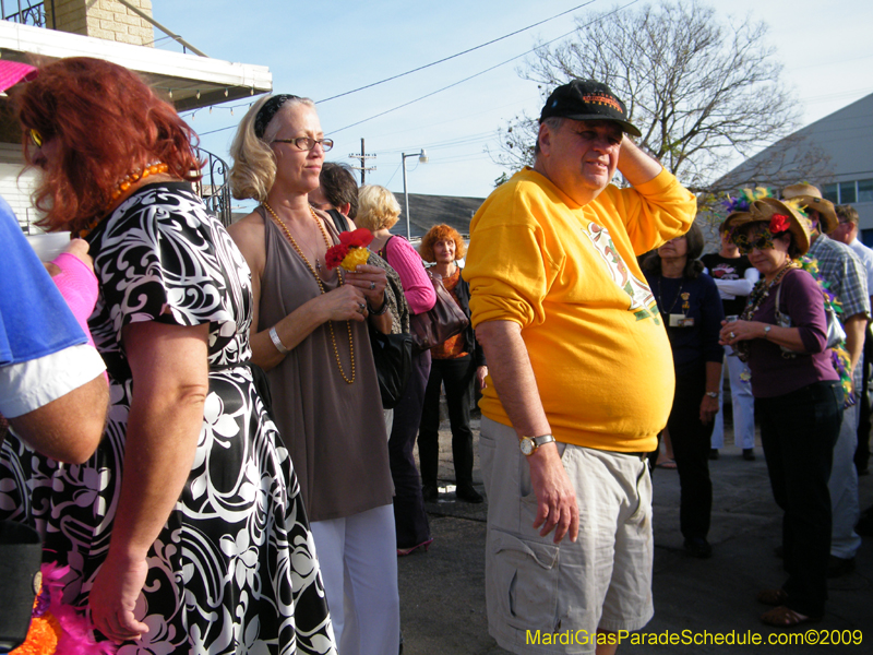
[(110, 551), (100, 565), (88, 596), (94, 627), (116, 643), (139, 639), (148, 626), (133, 616), (148, 564), (145, 559), (124, 560)]

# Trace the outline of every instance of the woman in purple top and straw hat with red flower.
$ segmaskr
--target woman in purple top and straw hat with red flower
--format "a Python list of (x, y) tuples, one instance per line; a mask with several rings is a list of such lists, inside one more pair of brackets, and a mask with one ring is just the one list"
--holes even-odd
[[(830, 553), (827, 480), (844, 393), (827, 346), (822, 289), (797, 259), (810, 247), (799, 210), (773, 198), (734, 201), (725, 229), (761, 273), (745, 310), (721, 327), (752, 372), (755, 416), (776, 503), (788, 580), (758, 593), (779, 628), (822, 618)], [(778, 301), (778, 306), (777, 306)], [(781, 318), (781, 320), (778, 320)]]

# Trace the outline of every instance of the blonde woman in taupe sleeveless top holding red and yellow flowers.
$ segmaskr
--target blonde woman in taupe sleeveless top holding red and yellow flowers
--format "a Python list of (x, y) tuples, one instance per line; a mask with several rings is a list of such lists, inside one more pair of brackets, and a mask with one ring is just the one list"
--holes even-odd
[(252, 360), (300, 480), (339, 652), (384, 655), (400, 630), (394, 489), (367, 323), (388, 333), (392, 320), (384, 269), (327, 266), (338, 234), (308, 194), (332, 146), (312, 100), (258, 100), (230, 184), (260, 205), (229, 231), (251, 269)]

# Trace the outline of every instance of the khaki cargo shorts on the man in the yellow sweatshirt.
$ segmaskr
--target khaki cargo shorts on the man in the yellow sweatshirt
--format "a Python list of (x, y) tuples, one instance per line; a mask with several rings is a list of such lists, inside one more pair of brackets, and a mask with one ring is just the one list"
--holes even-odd
[(515, 430), (482, 417), (489, 633), (514, 653), (595, 652), (597, 629), (639, 630), (651, 602), (651, 478), (638, 455), (559, 443), (579, 536), (533, 527), (537, 499)]

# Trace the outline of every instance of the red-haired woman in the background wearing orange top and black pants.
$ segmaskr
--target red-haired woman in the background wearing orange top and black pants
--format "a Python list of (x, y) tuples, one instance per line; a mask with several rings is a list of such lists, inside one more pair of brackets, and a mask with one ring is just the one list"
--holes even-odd
[[(442, 275), (445, 288), (458, 307), (470, 317), (470, 287), (455, 263), (464, 258), (464, 240), (449, 225), (434, 225), (421, 239), (421, 259), (436, 262), (433, 271)], [(488, 367), (485, 353), (476, 342), (473, 325), (430, 350), (432, 362), (421, 425), (418, 430), (418, 456), (421, 461), (421, 487), (424, 500), (434, 501), (440, 444), (440, 388), (445, 383), (445, 402), (452, 426), (452, 457), (455, 463), (455, 496), (466, 502), (482, 502), (473, 486), (473, 432), (470, 431), (470, 383), (485, 389)]]

